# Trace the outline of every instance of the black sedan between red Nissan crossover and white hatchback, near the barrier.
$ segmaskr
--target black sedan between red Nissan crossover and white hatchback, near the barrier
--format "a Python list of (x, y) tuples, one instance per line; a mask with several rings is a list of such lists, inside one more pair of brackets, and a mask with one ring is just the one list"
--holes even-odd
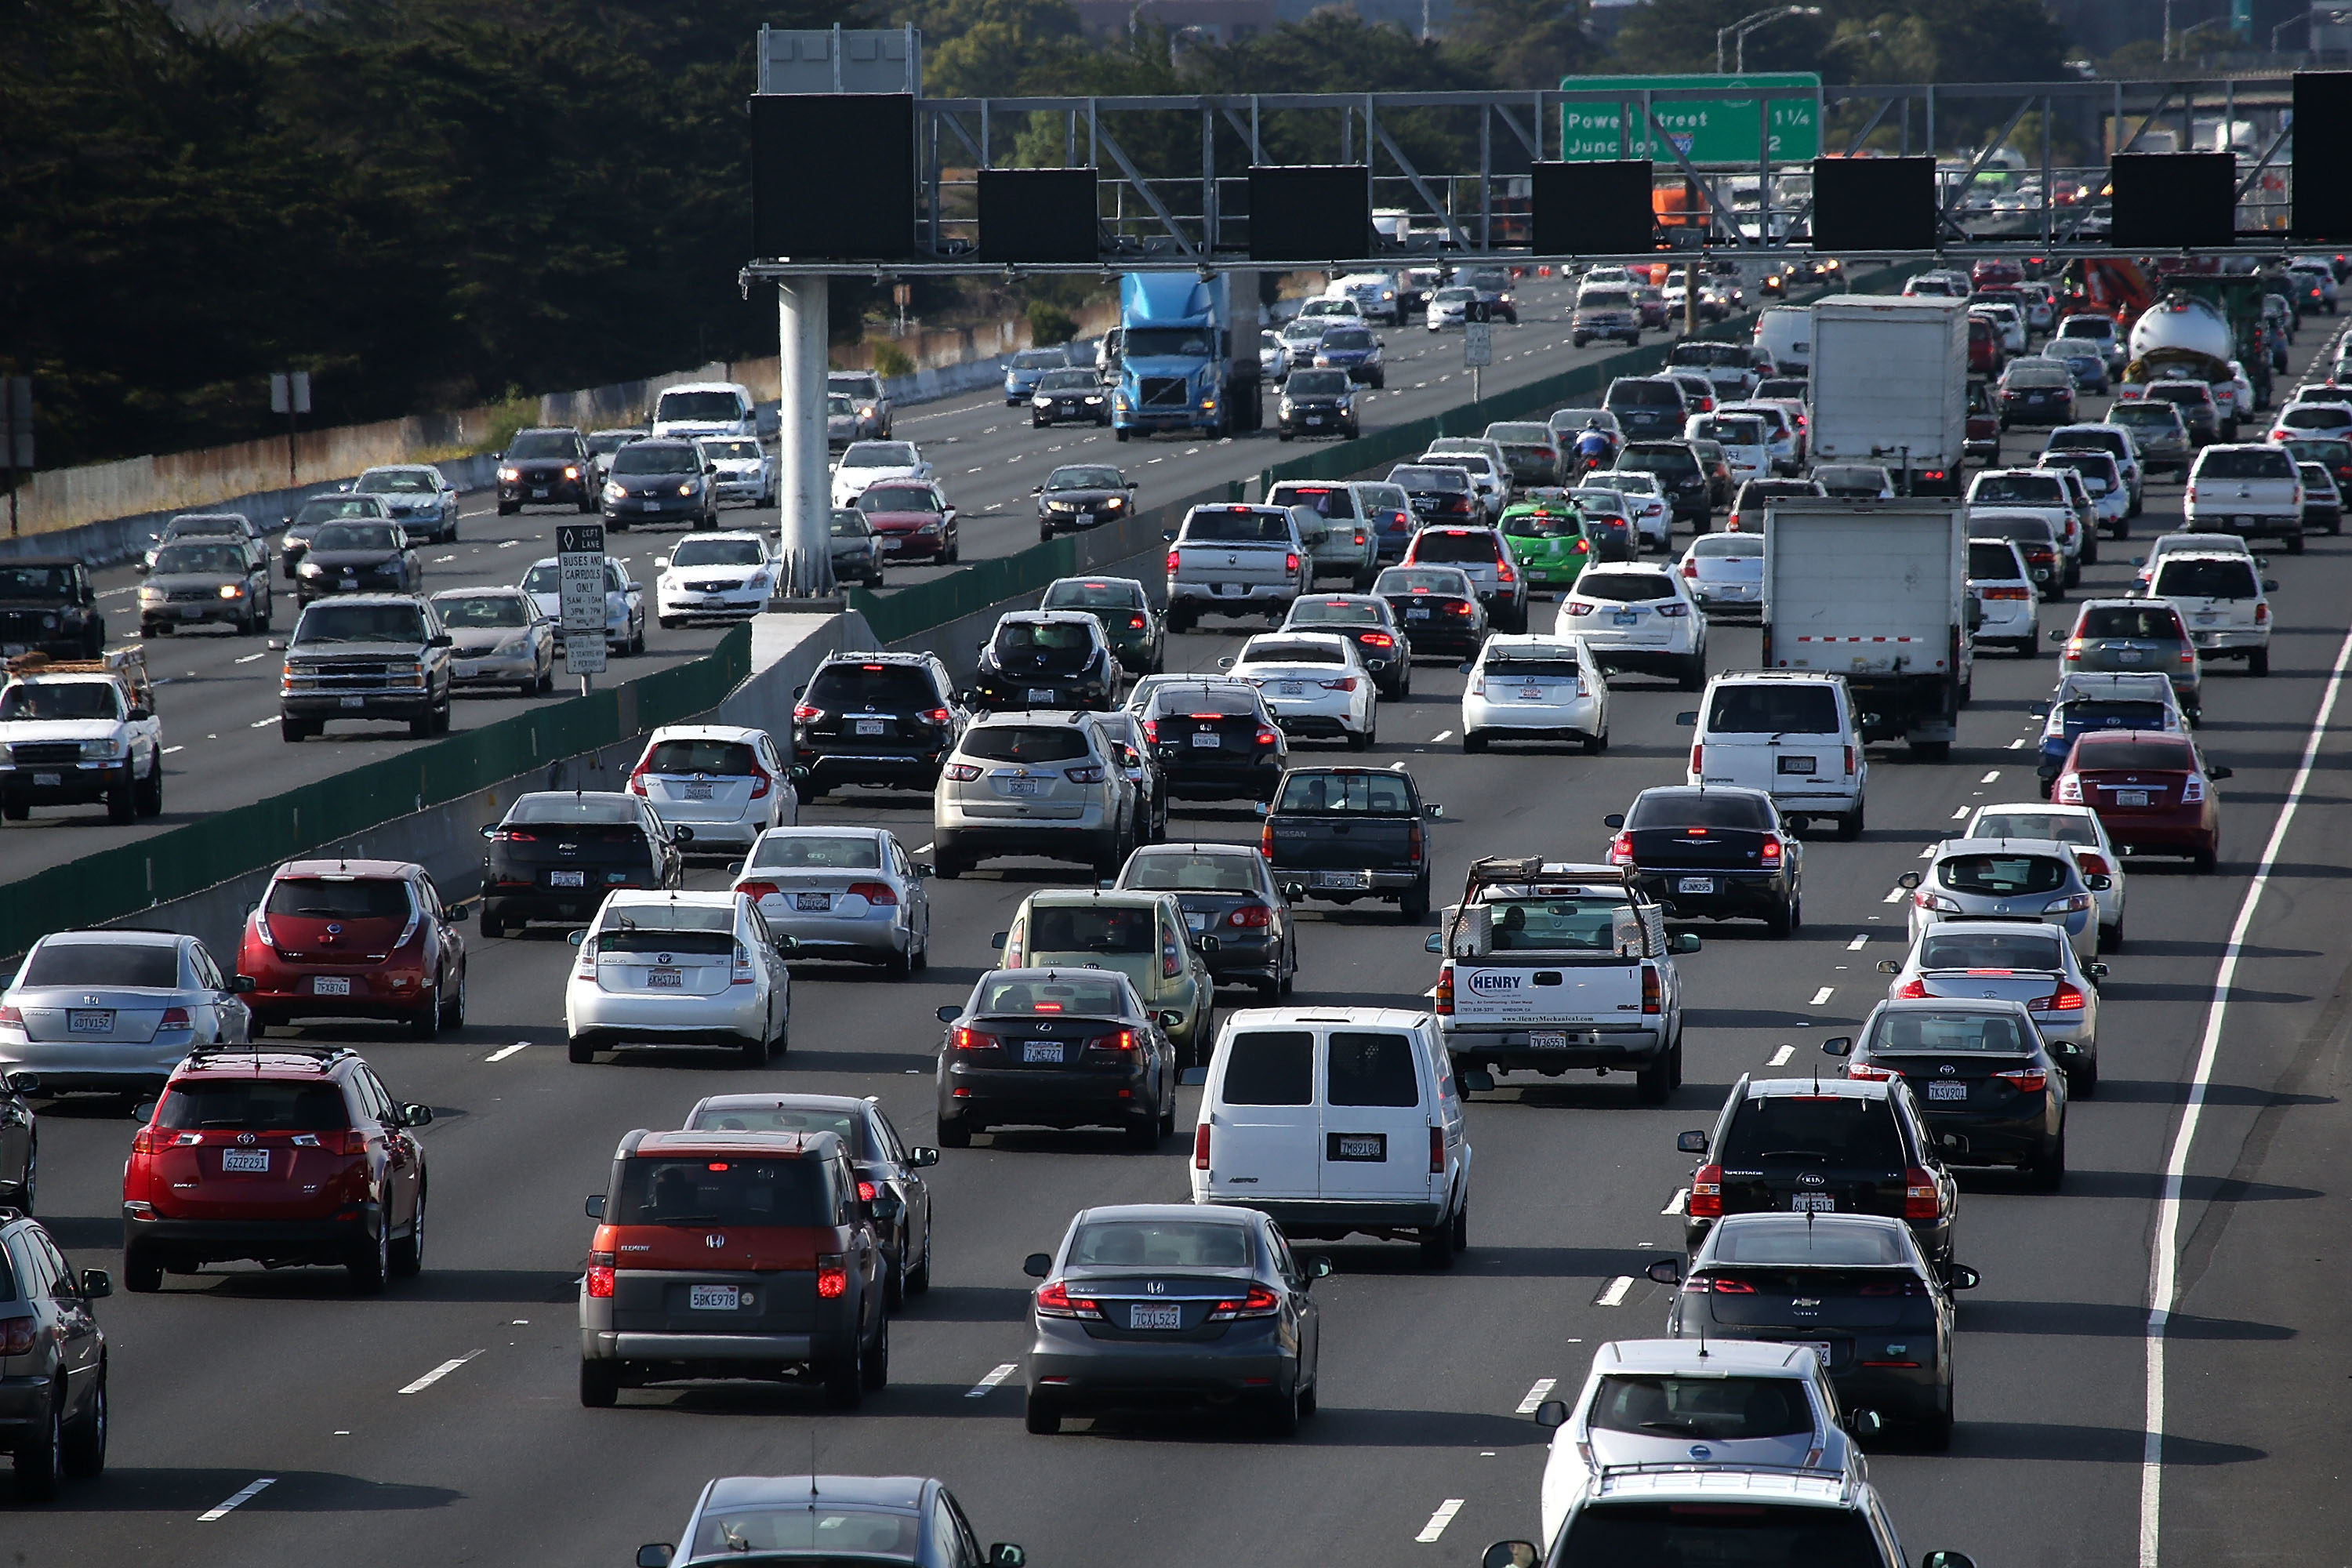
[(503, 936), (534, 919), (586, 926), (614, 889), (684, 886), (694, 830), (621, 790), (543, 790), (482, 837), (482, 936)]

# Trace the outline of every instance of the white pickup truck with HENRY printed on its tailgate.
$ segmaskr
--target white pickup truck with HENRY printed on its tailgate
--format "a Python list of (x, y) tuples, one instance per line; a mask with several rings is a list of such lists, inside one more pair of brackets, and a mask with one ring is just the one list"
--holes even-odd
[(1428, 938), (1437, 1027), (1458, 1084), (1534, 1070), (1632, 1072), (1646, 1105), (1682, 1081), (1682, 978), (1665, 914), (1630, 867), (1472, 860), (1463, 898)]

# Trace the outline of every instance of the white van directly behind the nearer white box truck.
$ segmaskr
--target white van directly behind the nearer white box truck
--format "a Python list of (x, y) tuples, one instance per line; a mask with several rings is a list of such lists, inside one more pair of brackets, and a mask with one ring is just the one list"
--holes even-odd
[(1832, 818), (1837, 837), (1860, 837), (1870, 762), (1842, 675), (1717, 675), (1682, 717), (1698, 731), (1684, 783), (1764, 790), (1780, 816)]

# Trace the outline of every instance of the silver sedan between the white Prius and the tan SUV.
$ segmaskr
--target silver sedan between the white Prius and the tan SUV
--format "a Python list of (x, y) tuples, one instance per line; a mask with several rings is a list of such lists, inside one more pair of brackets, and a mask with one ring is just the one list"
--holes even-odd
[(734, 889), (757, 900), (795, 959), (851, 959), (908, 976), (931, 961), (927, 865), (887, 827), (771, 827)]

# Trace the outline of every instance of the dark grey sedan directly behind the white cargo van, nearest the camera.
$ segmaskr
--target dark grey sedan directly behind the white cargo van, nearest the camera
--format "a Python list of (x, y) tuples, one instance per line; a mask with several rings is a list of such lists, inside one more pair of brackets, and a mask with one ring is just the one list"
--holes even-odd
[(1080, 1208), (1061, 1248), (1030, 1253), (1028, 1429), (1070, 1415), (1214, 1406), (1291, 1436), (1317, 1403), (1312, 1284), (1249, 1208), (1117, 1204)]

